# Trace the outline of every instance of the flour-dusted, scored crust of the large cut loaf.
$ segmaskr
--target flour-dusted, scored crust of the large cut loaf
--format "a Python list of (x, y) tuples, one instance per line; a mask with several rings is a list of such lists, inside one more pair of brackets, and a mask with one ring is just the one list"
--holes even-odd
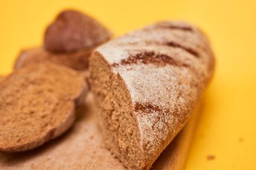
[[(107, 42), (91, 61), (99, 55), (129, 91), (145, 160), (137, 169), (149, 169), (191, 117), (213, 76), (210, 44), (188, 23), (162, 22)], [(92, 91), (98, 91), (94, 79)]]

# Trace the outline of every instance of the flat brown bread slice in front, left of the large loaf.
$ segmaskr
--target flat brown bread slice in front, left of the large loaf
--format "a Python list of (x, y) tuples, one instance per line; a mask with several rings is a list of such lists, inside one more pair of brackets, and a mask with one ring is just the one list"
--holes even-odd
[(68, 130), (85, 89), (78, 72), (55, 64), (10, 74), (0, 84), (0, 151), (33, 149)]

